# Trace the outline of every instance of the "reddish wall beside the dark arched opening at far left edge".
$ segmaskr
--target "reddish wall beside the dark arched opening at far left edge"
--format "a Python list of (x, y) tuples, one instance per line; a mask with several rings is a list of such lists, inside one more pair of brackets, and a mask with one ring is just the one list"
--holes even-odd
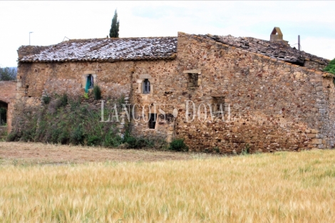
[(0, 101), (7, 106), (7, 131), (11, 132), (11, 121), (16, 96), (16, 81), (0, 81)]

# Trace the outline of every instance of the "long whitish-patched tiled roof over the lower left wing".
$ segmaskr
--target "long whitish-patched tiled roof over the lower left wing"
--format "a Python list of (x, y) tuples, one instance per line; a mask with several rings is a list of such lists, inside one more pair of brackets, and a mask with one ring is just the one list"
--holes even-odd
[(74, 39), (51, 46), (21, 46), (20, 62), (172, 59), (177, 37)]

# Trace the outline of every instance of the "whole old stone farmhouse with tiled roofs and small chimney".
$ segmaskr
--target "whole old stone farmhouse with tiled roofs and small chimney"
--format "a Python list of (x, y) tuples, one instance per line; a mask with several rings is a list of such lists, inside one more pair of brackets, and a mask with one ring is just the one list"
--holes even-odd
[(185, 139), (191, 151), (333, 148), (329, 60), (292, 48), (277, 27), (269, 37), (178, 32), (21, 46), (13, 117), (41, 106), (43, 94), (98, 84), (103, 99), (133, 105), (132, 134)]

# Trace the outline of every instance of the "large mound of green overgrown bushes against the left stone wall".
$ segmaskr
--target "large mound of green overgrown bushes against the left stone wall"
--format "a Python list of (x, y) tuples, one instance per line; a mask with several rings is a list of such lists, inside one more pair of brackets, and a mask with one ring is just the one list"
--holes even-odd
[[(66, 104), (70, 106), (65, 106)], [(105, 114), (111, 113), (112, 109), (105, 108)], [(7, 140), (122, 146), (129, 149), (160, 147), (158, 142), (133, 137), (129, 132), (125, 132), (121, 137), (117, 124), (100, 120), (100, 107), (81, 104), (80, 98), (70, 100), (63, 94), (51, 99), (49, 104), (44, 104), (38, 112), (27, 112), (19, 123), (14, 125), (16, 129), (9, 134)]]

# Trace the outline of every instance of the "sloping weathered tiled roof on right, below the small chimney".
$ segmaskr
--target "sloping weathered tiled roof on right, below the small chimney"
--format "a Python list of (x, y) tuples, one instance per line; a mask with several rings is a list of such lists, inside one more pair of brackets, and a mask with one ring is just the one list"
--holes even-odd
[(264, 54), (274, 59), (291, 62), (293, 64), (304, 64), (305, 60), (316, 61), (319, 64), (327, 65), (329, 59), (299, 51), (289, 46), (287, 41), (267, 41), (252, 37), (216, 36), (207, 34), (205, 37), (214, 39), (223, 44), (239, 47), (258, 54)]

